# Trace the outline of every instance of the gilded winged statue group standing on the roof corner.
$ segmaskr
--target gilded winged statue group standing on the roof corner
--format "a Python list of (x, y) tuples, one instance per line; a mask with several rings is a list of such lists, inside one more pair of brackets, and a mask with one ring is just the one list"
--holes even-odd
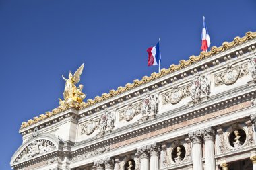
[(69, 79), (65, 79), (62, 75), (62, 78), (66, 81), (65, 89), (63, 92), (64, 100), (59, 99), (59, 105), (75, 107), (83, 102), (83, 99), (86, 98), (86, 95), (82, 92), (83, 85), (75, 86), (80, 81), (80, 75), (84, 69), (84, 63), (75, 71), (72, 75), (69, 71)]

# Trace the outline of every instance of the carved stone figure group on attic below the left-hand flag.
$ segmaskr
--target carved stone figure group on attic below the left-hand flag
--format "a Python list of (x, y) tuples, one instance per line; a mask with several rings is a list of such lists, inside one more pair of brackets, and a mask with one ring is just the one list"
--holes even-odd
[(158, 112), (158, 98), (155, 95), (150, 95), (149, 92), (142, 99), (142, 115), (149, 116), (150, 114), (157, 114)]

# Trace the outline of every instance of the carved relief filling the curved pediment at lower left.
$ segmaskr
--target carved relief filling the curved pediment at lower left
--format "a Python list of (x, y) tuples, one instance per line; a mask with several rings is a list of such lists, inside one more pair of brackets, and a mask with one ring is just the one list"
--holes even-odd
[(24, 148), (17, 159), (15, 159), (15, 163), (49, 153), (55, 148), (56, 146), (49, 140), (36, 140)]

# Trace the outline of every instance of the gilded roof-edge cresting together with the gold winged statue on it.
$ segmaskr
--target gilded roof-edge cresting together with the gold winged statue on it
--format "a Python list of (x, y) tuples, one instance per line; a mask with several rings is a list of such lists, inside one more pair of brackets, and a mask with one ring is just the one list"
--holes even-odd
[(59, 114), (60, 112), (63, 112), (69, 108), (76, 108), (77, 110), (88, 108), (92, 105), (95, 105), (96, 103), (100, 103), (101, 101), (109, 99), (110, 97), (114, 97), (116, 95), (124, 93), (125, 91), (134, 89), (135, 87), (139, 87), (164, 75), (168, 75), (170, 73), (173, 73), (174, 71), (178, 71), (180, 69), (188, 67), (193, 63), (203, 60), (204, 58), (208, 58), (220, 52), (224, 52), (225, 50), (228, 50), (230, 48), (233, 48), (234, 46), (238, 46), (239, 44), (255, 38), (256, 32), (247, 32), (242, 38), (237, 36), (232, 42), (223, 42), (222, 46), (220, 47), (212, 46), (211, 50), (208, 52), (201, 52), (199, 56), (190, 56), (189, 60), (181, 60), (178, 65), (172, 64), (168, 69), (161, 69), (160, 73), (152, 73), (150, 77), (144, 76), (142, 80), (135, 79), (133, 83), (127, 83), (125, 87), (118, 87), (117, 90), (112, 89), (109, 91), (109, 93), (103, 93), (101, 96), (96, 96), (94, 99), (88, 99), (87, 102), (83, 102), (83, 99), (86, 97), (86, 95), (82, 93), (83, 86), (75, 86), (75, 84), (79, 82), (80, 75), (82, 74), (82, 71), (84, 69), (84, 64), (82, 64), (81, 67), (79, 67), (79, 69), (75, 71), (74, 75), (72, 75), (71, 72), (69, 73), (69, 79), (65, 79), (65, 77), (63, 77), (63, 79), (66, 81), (66, 85), (63, 92), (64, 100), (60, 99), (59, 107), (53, 109), (51, 112), (46, 112), (46, 114), (40, 114), (39, 119), (38, 117), (34, 117), (34, 120), (30, 119), (28, 120), (28, 122), (22, 122), (21, 129), (35, 124), (36, 122), (40, 122), (51, 116), (54, 116), (55, 114)]

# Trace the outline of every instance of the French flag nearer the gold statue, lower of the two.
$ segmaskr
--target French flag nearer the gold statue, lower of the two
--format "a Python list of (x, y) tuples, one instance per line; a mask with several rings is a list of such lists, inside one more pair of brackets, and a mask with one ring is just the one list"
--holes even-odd
[(160, 40), (158, 41), (156, 46), (148, 48), (147, 52), (148, 52), (148, 66), (159, 65), (161, 62)]

